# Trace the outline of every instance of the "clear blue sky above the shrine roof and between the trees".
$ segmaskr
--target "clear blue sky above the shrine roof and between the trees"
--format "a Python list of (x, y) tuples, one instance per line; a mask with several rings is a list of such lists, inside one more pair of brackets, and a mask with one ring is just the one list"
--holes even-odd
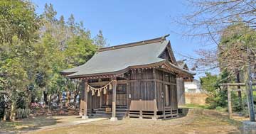
[(32, 2), (38, 6), (36, 9), (38, 13), (43, 12), (46, 3), (53, 4), (58, 12), (57, 17), (63, 15), (67, 19), (73, 13), (75, 21), (83, 21), (85, 28), (91, 31), (92, 37), (102, 30), (110, 45), (132, 43), (170, 34), (168, 39), (171, 40), (177, 60), (181, 60), (179, 53), (195, 56), (194, 50), (199, 48), (198, 40), (176, 34), (180, 32), (181, 26), (175, 25), (173, 18), (189, 12), (184, 5), (185, 1), (32, 0)]

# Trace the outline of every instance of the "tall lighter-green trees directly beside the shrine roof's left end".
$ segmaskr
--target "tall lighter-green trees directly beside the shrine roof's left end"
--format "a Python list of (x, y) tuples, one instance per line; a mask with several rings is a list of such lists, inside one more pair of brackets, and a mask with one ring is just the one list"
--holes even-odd
[[(38, 86), (48, 95), (60, 95), (62, 91), (77, 90), (72, 83), (60, 75), (62, 69), (82, 65), (95, 53), (95, 45), (90, 39), (90, 31), (82, 23), (75, 23), (73, 15), (65, 22), (55, 17), (53, 6), (46, 4), (44, 12), (44, 31), (38, 47), (44, 58), (39, 62)], [(42, 51), (43, 50), (43, 51)], [(69, 86), (69, 89), (67, 87)]]

